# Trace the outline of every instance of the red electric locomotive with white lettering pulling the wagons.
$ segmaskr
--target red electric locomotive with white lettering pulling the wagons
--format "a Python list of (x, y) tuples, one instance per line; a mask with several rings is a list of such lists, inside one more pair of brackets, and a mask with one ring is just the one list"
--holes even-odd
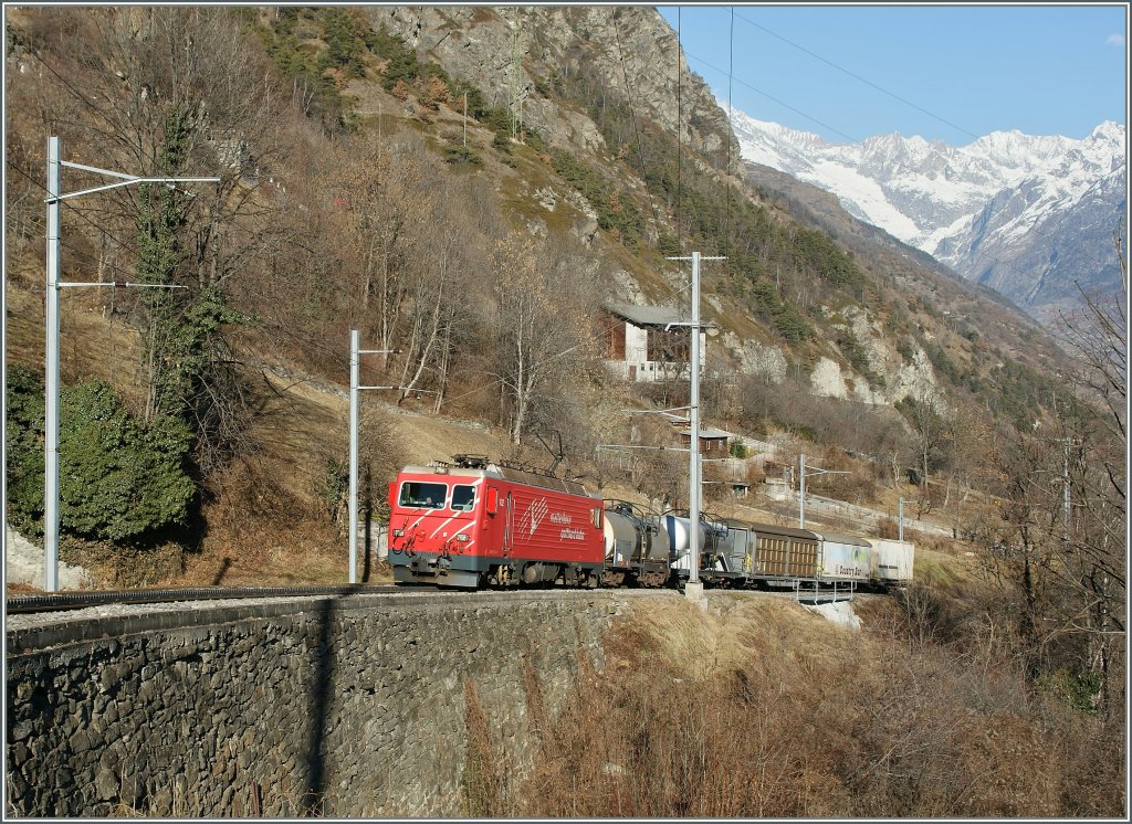
[(397, 583), (597, 587), (601, 498), (572, 480), (480, 456), (405, 467), (389, 485), (389, 564)]

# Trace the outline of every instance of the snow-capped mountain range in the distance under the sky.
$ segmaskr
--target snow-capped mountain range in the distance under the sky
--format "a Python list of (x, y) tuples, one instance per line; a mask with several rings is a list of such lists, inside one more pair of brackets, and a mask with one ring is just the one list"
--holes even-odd
[(1078, 284), (1120, 287), (1124, 125), (1101, 123), (1083, 140), (993, 132), (955, 147), (895, 133), (831, 144), (743, 112), (731, 121), (745, 161), (832, 192), (855, 217), (1039, 319), (1079, 304)]

